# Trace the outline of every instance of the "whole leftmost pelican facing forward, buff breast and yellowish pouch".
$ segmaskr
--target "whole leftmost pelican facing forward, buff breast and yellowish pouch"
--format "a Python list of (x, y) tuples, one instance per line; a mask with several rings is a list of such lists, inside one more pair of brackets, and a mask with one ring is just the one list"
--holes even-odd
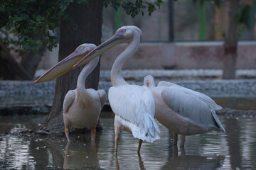
[[(64, 60), (55, 64), (51, 69), (43, 74), (38, 82), (48, 81), (59, 77), (70, 71), (73, 65), (94, 49), (94, 44), (82, 44)], [(100, 57), (96, 57), (83, 67), (78, 76), (77, 88), (70, 90), (65, 95), (63, 101), (63, 120), (65, 125), (65, 135), (70, 143), (69, 128), (91, 128), (91, 140), (95, 141), (96, 126), (100, 117), (100, 112), (105, 103), (106, 92), (104, 90), (85, 89), (85, 79), (95, 69)]]

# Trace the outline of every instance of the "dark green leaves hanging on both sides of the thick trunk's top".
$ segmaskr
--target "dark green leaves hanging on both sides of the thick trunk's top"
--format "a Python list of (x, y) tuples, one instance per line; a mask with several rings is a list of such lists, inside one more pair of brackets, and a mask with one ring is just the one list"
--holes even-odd
[[(144, 15), (145, 9), (150, 16), (162, 0), (153, 3), (142, 0), (103, 2), (105, 7), (111, 5), (116, 11), (122, 7), (134, 17), (139, 13)], [(57, 45), (54, 30), (58, 28), (60, 18), (68, 19), (65, 10), (72, 3), (87, 3), (87, 0), (0, 0), (0, 40), (6, 46), (21, 47), (22, 50), (36, 50), (40, 46), (52, 50)]]

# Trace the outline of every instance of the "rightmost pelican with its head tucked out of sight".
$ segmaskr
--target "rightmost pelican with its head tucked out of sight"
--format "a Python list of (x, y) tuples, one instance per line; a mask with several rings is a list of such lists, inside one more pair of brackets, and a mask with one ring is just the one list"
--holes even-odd
[(174, 132), (173, 145), (177, 145), (178, 134), (183, 147), (186, 135), (225, 132), (215, 113), (221, 107), (209, 96), (167, 81), (155, 86), (151, 75), (144, 77), (144, 86), (149, 86), (154, 95), (156, 120)]

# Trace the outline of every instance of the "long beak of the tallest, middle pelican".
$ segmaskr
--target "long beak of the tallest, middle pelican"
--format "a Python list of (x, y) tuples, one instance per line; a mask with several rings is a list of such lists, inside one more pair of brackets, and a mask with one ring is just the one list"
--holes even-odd
[(114, 47), (115, 45), (129, 41), (129, 39), (124, 38), (124, 35), (115, 34), (110, 39), (106, 40), (101, 45), (97, 46), (94, 50), (85, 55), (85, 57), (82, 57), (82, 60), (75, 64), (73, 69), (80, 67), (82, 64), (90, 62), (90, 60), (93, 60), (95, 57), (102, 55), (102, 53), (110, 50), (110, 48)]

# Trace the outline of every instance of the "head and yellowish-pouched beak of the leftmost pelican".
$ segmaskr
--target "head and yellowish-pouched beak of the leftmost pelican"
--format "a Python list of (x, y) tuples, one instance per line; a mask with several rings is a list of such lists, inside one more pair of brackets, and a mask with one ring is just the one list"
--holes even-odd
[(34, 84), (43, 83), (51, 79), (60, 77), (61, 75), (69, 72), (73, 65), (82, 59), (88, 52), (93, 50), (96, 47), (94, 44), (82, 44), (79, 45), (74, 52), (72, 52), (68, 57), (65, 57), (63, 60), (51, 67), (43, 76), (39, 77)]

